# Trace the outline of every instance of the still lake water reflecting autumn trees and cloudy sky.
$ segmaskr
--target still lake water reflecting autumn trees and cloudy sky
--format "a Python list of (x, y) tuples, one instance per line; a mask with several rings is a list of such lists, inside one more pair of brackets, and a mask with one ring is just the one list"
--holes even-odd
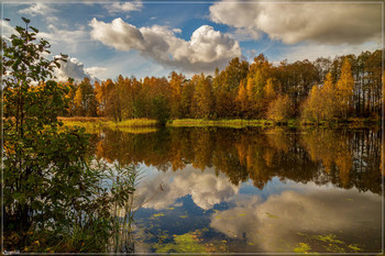
[(135, 252), (380, 253), (381, 131), (103, 131), (135, 164)]

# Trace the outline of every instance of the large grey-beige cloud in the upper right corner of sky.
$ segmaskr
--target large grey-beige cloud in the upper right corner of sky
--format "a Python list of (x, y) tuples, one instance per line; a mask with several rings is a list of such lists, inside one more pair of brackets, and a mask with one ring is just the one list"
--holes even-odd
[(381, 42), (381, 3), (222, 1), (210, 7), (210, 18), (254, 40), (264, 32), (287, 44), (302, 41), (331, 45)]

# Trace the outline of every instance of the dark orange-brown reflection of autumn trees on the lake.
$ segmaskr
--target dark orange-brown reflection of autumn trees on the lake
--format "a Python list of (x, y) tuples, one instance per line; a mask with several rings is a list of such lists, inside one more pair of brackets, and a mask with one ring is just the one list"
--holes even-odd
[(233, 185), (251, 179), (263, 189), (273, 178), (332, 183), (381, 193), (381, 131), (308, 129), (163, 129), (146, 134), (103, 131), (96, 155), (162, 171), (212, 167)]

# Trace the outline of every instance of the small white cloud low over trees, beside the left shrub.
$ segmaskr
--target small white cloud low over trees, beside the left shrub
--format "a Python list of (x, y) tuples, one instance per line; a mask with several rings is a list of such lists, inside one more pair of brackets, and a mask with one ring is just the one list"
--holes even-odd
[(80, 63), (77, 58), (68, 57), (66, 63), (61, 62), (61, 67), (55, 69), (55, 77), (59, 81), (65, 81), (68, 78), (75, 80), (82, 80), (85, 77), (91, 80), (99, 80), (97, 75), (106, 71), (103, 67), (89, 67), (85, 68), (85, 65)]

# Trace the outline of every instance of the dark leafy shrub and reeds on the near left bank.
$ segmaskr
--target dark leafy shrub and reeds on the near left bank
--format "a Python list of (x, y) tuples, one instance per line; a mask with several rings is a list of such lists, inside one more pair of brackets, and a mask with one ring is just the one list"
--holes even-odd
[(53, 80), (53, 70), (67, 57), (46, 59), (48, 42), (36, 42), (38, 31), (23, 21), (18, 35), (1, 41), (2, 248), (130, 252), (131, 222), (118, 212), (130, 216), (139, 171), (95, 159), (85, 129), (57, 119), (68, 108), (69, 88)]

